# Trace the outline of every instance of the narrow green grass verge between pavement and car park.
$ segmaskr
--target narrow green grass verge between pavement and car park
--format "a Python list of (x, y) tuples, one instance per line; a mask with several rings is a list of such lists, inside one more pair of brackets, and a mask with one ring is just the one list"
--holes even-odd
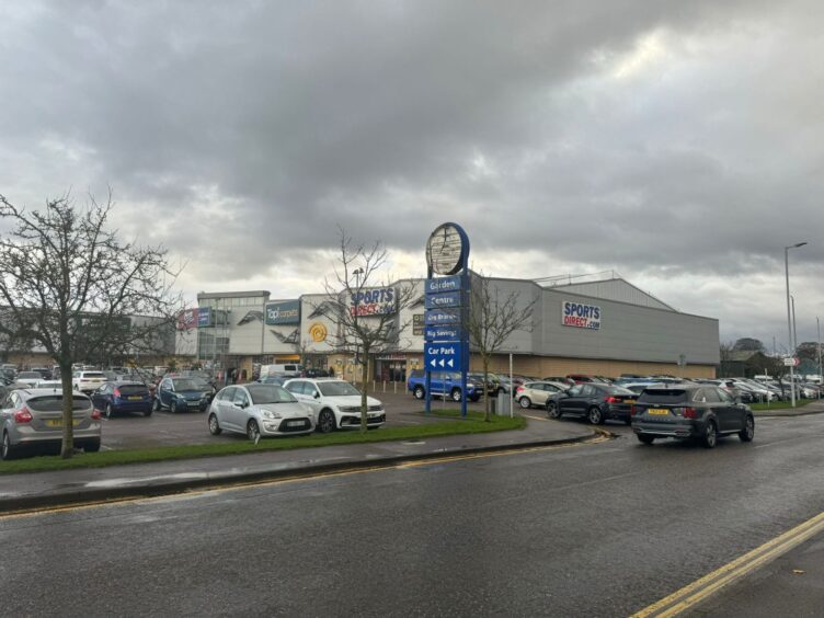
[(53, 470), (69, 470), (73, 468), (105, 468), (107, 466), (123, 466), (128, 464), (148, 464), (151, 461), (172, 461), (180, 459), (195, 459), (199, 457), (245, 455), (250, 453), (288, 450), (294, 448), (482, 434), (507, 430), (523, 430), (526, 426), (526, 420), (523, 416), (515, 416), (514, 419), (506, 416), (492, 416), (492, 420), (487, 423), (483, 421), (483, 414), (478, 412), (468, 413), (466, 419), (460, 417), (459, 410), (438, 410), (437, 412), (433, 412), (433, 414), (437, 416), (454, 417), (455, 420), (438, 421), (432, 425), (417, 425), (412, 427), (381, 427), (379, 430), (371, 430), (367, 434), (351, 431), (325, 435), (310, 434), (308, 436), (287, 438), (266, 438), (262, 439), (256, 445), (242, 439), (241, 436), (227, 436), (224, 434), (215, 437), (215, 444), (159, 446), (157, 448), (140, 448), (133, 450), (83, 453), (76, 455), (71, 459), (60, 459), (58, 456), (41, 456), (30, 459), (0, 461), (0, 474), (46, 472)]

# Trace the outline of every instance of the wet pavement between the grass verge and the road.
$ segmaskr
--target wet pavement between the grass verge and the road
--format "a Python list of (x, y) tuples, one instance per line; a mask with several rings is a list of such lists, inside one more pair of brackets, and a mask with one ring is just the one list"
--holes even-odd
[[(527, 426), (519, 431), (0, 474), (0, 513), (388, 467), (447, 455), (551, 446), (582, 442), (598, 435), (596, 430), (582, 422), (548, 421), (540, 410), (528, 411), (525, 415)], [(420, 414), (416, 417), (425, 419)], [(438, 421), (433, 419), (432, 422)], [(609, 425), (605, 425), (605, 428), (608, 432)]]

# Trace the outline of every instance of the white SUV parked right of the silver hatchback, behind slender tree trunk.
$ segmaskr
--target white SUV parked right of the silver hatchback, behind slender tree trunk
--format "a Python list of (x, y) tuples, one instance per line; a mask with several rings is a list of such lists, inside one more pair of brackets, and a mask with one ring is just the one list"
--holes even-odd
[[(285, 382), (284, 388), (311, 407), (319, 432), (328, 434), (360, 426), (360, 391), (350, 382), (335, 378), (295, 378)], [(369, 428), (386, 423), (384, 404), (374, 397), (366, 398), (366, 413)]]

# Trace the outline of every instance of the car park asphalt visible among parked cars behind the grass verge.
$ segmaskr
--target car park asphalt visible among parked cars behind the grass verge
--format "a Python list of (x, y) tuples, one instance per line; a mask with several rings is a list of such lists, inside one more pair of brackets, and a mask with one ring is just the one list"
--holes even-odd
[[(424, 420), (416, 415), (423, 410), (423, 402), (417, 401), (414, 397), (402, 391), (402, 385), (399, 385), (398, 391), (393, 392), (391, 386), (387, 392), (382, 392), (378, 387), (378, 392), (369, 393), (384, 402), (387, 411), (387, 425), (404, 426), (417, 425), (424, 422), (437, 422), (436, 419)], [(460, 403), (449, 400), (434, 399), (432, 402), (433, 410), (455, 409)], [(483, 410), (482, 402), (469, 402), (469, 410)], [(516, 410), (519, 410), (516, 404)], [(542, 413), (539, 409), (533, 412)], [(206, 426), (206, 414), (203, 412), (181, 412), (172, 414), (169, 411), (156, 412), (149, 417), (142, 414), (118, 414), (112, 419), (103, 420), (103, 448), (104, 449), (124, 449), (124, 448), (147, 448), (152, 446), (173, 446), (181, 444), (211, 444), (232, 439), (245, 439), (244, 436), (225, 433), (220, 436), (209, 434)]]

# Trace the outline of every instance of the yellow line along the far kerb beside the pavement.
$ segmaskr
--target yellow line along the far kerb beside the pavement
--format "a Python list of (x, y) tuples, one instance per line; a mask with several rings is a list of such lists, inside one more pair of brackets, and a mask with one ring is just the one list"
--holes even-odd
[(41, 508), (28, 508), (28, 510), (21, 510), (21, 511), (14, 511), (11, 513), (2, 513), (0, 514), (0, 520), (3, 519), (19, 519), (24, 517), (35, 517), (38, 515), (45, 515), (50, 513), (65, 513), (65, 512), (71, 512), (71, 511), (83, 511), (88, 508), (95, 508), (99, 506), (115, 506), (121, 504), (128, 504), (133, 502), (137, 503), (150, 503), (150, 502), (157, 502), (160, 500), (168, 500), (170, 497), (194, 497), (198, 495), (204, 495), (207, 493), (216, 492), (216, 491), (238, 491), (249, 488), (255, 488), (255, 487), (274, 487), (274, 485), (281, 485), (286, 483), (294, 483), (298, 481), (310, 481), (310, 480), (318, 480), (318, 479), (329, 479), (334, 477), (347, 477), (352, 474), (366, 474), (369, 472), (379, 472), (384, 470), (401, 470), (404, 468), (419, 468), (423, 466), (434, 466), (438, 464), (449, 464), (453, 461), (464, 461), (467, 459), (482, 459), (487, 457), (500, 457), (504, 455), (519, 455), (523, 453), (534, 453), (539, 450), (558, 450), (561, 448), (570, 448), (570, 447), (577, 447), (583, 445), (590, 445), (590, 444), (599, 444), (602, 442), (606, 442), (609, 439), (608, 432), (599, 432), (600, 435), (597, 437), (594, 437), (592, 439), (577, 442), (577, 443), (569, 443), (569, 444), (557, 444), (551, 446), (534, 446), (534, 447), (525, 447), (525, 448), (517, 448), (517, 449), (510, 449), (510, 450), (500, 450), (500, 451), (493, 451), (493, 453), (476, 453), (476, 454), (468, 454), (468, 455), (444, 455), (443, 457), (437, 457), (434, 459), (421, 459), (420, 461), (404, 461), (399, 462), (390, 466), (371, 466), (369, 468), (353, 468), (353, 469), (346, 469), (346, 470), (337, 470), (333, 472), (320, 472), (320, 473), (308, 473), (308, 474), (301, 474), (299, 472), (296, 472), (291, 477), (285, 477), (274, 480), (260, 480), (260, 481), (243, 481), (240, 483), (231, 483), (226, 485), (216, 484), (214, 487), (207, 487), (203, 489), (197, 490), (183, 490), (178, 493), (170, 493), (164, 495), (154, 495), (154, 496), (126, 496), (126, 497), (115, 497), (113, 500), (99, 500), (94, 502), (84, 502), (79, 504), (69, 504), (66, 506), (50, 506), (50, 507), (41, 507)]

